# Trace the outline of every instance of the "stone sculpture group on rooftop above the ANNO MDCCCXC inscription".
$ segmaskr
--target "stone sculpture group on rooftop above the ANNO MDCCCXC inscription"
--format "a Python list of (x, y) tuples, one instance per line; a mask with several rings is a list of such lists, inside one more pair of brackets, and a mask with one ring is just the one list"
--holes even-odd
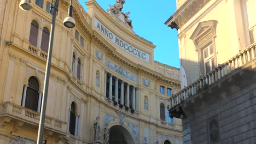
[(116, 17), (118, 17), (118, 19), (120, 19), (121, 21), (123, 21), (124, 23), (126, 23), (132, 28), (132, 20), (129, 20), (129, 16), (128, 16), (130, 14), (130, 11), (128, 11), (127, 13), (122, 12), (122, 9), (124, 8), (123, 4), (125, 3), (125, 0), (116, 0), (115, 2), (116, 4), (109, 5), (107, 12), (109, 14), (115, 15)]

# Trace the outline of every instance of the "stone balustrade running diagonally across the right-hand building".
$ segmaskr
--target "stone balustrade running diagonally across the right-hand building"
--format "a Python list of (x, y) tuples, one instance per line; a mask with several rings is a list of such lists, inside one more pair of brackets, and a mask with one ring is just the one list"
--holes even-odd
[(222, 79), (225, 75), (231, 73), (231, 71), (242, 67), (247, 62), (254, 59), (256, 43), (247, 47), (245, 50), (239, 52), (236, 56), (229, 59), (229, 61), (219, 65), (216, 69), (212, 70), (209, 74), (201, 76), (199, 80), (195, 81), (191, 85), (183, 88), (178, 93), (174, 94), (170, 98), (171, 108), (182, 103), (184, 100), (192, 97), (196, 93), (200, 92), (203, 88), (212, 85), (219, 79)]

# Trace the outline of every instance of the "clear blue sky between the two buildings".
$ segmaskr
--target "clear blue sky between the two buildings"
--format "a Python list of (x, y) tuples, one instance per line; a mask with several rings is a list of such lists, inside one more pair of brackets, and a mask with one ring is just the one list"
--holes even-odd
[[(86, 1), (79, 0), (85, 11)], [(115, 0), (96, 0), (104, 10), (108, 5), (115, 4)], [(156, 45), (154, 59), (160, 63), (179, 68), (178, 32), (164, 25), (165, 21), (176, 10), (174, 0), (126, 0), (123, 12), (130, 11), (133, 31), (140, 37), (152, 41)]]

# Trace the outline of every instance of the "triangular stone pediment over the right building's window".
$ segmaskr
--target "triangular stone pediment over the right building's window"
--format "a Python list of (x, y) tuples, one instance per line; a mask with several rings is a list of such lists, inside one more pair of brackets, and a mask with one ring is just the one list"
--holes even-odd
[(190, 39), (195, 40), (199, 37), (202, 37), (205, 34), (205, 32), (209, 30), (212, 31), (214, 35), (216, 35), (216, 24), (216, 20), (199, 22)]

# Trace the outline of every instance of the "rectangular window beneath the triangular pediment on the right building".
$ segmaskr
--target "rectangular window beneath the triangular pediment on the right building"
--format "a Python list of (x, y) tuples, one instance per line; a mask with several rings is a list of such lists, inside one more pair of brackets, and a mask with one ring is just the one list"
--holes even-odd
[(215, 68), (212, 44), (203, 49), (203, 65), (205, 68), (205, 74), (210, 73), (210, 71)]

